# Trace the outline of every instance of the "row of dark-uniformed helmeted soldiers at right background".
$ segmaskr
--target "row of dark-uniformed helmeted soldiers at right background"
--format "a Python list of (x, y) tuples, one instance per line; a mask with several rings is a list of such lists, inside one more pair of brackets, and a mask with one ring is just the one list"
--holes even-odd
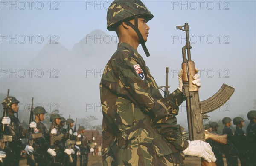
[[(224, 124), (222, 134), (227, 134), (227, 145), (221, 145), (211, 139), (207, 140), (212, 146), (217, 166), (224, 166), (222, 154), (226, 157), (227, 166), (238, 166), (238, 158), (241, 166), (256, 166), (256, 111), (248, 112), (247, 118), (250, 120), (250, 124), (247, 126), (246, 133), (243, 130), (245, 120), (242, 117), (233, 119), (233, 123), (236, 125), (235, 132), (231, 128), (232, 119), (230, 117), (222, 119)], [(211, 122), (206, 129), (221, 134), (218, 133), (218, 127), (217, 122)]]

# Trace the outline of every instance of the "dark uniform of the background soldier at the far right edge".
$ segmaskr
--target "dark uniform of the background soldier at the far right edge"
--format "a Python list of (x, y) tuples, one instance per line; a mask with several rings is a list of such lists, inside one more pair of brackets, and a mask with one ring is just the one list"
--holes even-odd
[(253, 120), (250, 120), (250, 124), (246, 129), (247, 141), (249, 143), (249, 157), (250, 157), (250, 166), (256, 166), (256, 123)]

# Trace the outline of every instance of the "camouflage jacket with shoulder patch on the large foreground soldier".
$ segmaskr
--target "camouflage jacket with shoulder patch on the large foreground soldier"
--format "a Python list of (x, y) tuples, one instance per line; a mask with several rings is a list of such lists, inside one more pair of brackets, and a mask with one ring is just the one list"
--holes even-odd
[(145, 61), (127, 43), (118, 44), (105, 66), (100, 95), (103, 165), (151, 165), (156, 156), (188, 146), (175, 117), (183, 93), (163, 98)]

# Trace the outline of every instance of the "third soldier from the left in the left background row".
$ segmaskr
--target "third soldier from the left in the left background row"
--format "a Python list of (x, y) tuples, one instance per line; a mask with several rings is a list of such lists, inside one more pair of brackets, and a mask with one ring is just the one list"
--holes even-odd
[(64, 165), (64, 153), (67, 155), (71, 155), (71, 153), (75, 153), (73, 149), (67, 149), (64, 145), (64, 133), (60, 127), (61, 116), (59, 114), (52, 114), (50, 117), (50, 121), (52, 121), (52, 126), (49, 130), (50, 134), (50, 145), (52, 149), (57, 149), (57, 155), (52, 157), (51, 165)]

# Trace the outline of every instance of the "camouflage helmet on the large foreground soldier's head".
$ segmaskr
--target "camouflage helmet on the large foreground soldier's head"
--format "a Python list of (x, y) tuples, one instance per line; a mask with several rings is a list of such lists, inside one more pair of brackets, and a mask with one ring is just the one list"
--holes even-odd
[(145, 18), (146, 22), (154, 17), (140, 0), (115, 0), (108, 8), (107, 29), (116, 31), (120, 23), (136, 16)]

